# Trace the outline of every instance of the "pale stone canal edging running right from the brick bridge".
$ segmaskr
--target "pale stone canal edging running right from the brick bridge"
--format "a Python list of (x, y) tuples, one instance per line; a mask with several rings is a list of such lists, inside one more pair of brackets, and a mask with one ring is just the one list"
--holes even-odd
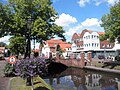
[(84, 66), (84, 69), (120, 74), (120, 70), (101, 68), (101, 67), (95, 67), (95, 66)]

